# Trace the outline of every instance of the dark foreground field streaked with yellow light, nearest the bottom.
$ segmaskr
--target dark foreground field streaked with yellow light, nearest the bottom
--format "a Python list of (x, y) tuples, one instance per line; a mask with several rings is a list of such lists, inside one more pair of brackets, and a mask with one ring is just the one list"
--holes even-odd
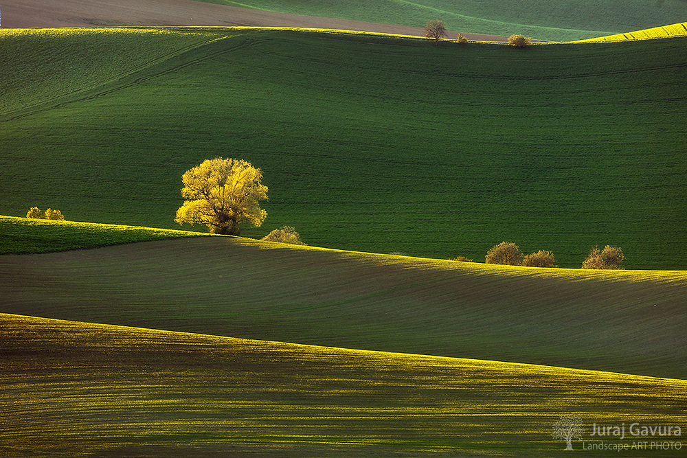
[(561, 415), (582, 418), (587, 444), (594, 422), (687, 421), (684, 380), (9, 314), (0, 325), (3, 456), (551, 457)]

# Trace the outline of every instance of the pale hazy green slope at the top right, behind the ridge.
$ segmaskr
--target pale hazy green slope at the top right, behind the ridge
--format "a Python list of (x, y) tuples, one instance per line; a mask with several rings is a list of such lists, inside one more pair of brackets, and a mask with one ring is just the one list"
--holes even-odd
[(685, 20), (682, 0), (208, 0), (259, 10), (422, 27), (441, 18), (449, 30), (546, 41), (581, 40)]

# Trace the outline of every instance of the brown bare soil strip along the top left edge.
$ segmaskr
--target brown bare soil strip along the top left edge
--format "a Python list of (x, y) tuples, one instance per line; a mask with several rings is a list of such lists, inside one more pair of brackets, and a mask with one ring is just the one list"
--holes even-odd
[[(17, 0), (2, 6), (3, 28), (98, 27), (126, 25), (210, 25), (221, 27), (304, 27), (424, 36), (422, 27), (404, 27), (235, 8), (192, 0)], [(458, 32), (449, 32), (455, 38)], [(464, 34), (475, 41), (499, 36)]]

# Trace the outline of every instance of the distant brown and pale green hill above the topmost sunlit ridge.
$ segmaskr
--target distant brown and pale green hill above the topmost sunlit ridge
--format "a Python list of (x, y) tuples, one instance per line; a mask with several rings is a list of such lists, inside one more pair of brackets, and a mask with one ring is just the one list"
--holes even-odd
[(3, 26), (10, 28), (238, 25), (420, 36), (429, 19), (441, 18), (453, 31), (451, 38), (457, 32), (469, 37), (526, 34), (544, 41), (581, 40), (687, 19), (683, 0), (16, 0), (3, 12)]

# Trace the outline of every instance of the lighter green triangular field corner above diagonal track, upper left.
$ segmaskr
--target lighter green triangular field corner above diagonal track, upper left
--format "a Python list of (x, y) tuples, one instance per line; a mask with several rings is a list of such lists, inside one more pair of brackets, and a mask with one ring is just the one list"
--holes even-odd
[(102, 87), (217, 36), (182, 28), (2, 30), (0, 115)]

